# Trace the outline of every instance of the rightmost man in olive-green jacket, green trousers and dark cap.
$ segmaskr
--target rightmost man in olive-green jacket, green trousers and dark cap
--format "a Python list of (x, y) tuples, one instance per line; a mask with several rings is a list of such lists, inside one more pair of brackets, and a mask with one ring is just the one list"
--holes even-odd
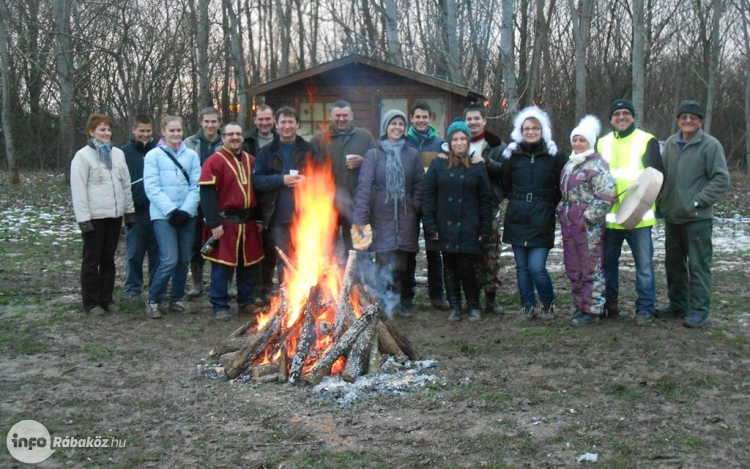
[(711, 310), (711, 229), (714, 204), (729, 189), (724, 148), (703, 132), (703, 108), (687, 100), (677, 109), (680, 130), (664, 145), (659, 208), (666, 221), (665, 266), (669, 306), (659, 318), (684, 317), (703, 327)]

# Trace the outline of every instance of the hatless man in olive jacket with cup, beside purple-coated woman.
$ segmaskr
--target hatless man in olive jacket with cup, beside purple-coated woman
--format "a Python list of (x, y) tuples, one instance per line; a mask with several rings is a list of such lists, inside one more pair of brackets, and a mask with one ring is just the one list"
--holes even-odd
[(336, 209), (339, 211), (339, 228), (344, 245), (342, 262), (346, 262), (352, 248), (352, 210), (354, 191), (359, 182), (359, 169), (363, 155), (375, 147), (372, 134), (352, 124), (354, 113), (351, 105), (339, 100), (333, 103), (328, 127), (317, 132), (310, 143), (318, 149), (321, 157), (330, 161), (336, 183)]

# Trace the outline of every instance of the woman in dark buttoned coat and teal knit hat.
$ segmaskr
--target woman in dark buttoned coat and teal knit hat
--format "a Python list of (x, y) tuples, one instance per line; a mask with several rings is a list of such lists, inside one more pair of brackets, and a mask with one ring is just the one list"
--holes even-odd
[(469, 321), (481, 317), (478, 256), (481, 239), (489, 239), (492, 229), (492, 189), (484, 166), (471, 164), (470, 139), (466, 122), (453, 121), (448, 128), (448, 157), (430, 163), (422, 197), (427, 250), (443, 255), (451, 321), (461, 319), (461, 287)]

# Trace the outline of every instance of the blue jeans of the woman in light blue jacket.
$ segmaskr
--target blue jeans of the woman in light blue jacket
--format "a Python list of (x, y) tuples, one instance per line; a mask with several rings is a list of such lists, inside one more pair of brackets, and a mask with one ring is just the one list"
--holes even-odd
[(195, 217), (190, 218), (179, 228), (170, 225), (168, 220), (154, 220), (153, 226), (156, 241), (159, 243), (159, 268), (156, 269), (154, 280), (151, 282), (148, 300), (159, 301), (166, 296), (170, 279), (172, 279), (170, 298), (180, 300), (185, 296), (185, 281), (187, 281), (190, 265)]

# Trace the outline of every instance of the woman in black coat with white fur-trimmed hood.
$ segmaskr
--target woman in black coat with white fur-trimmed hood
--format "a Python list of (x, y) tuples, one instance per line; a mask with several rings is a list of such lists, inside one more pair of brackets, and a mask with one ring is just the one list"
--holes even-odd
[(508, 198), (503, 243), (513, 246), (523, 315), (554, 315), (555, 291), (547, 272), (547, 256), (555, 241), (555, 208), (560, 201), (560, 171), (568, 158), (557, 151), (547, 113), (536, 106), (514, 121), (513, 143), (503, 152), (500, 179)]

